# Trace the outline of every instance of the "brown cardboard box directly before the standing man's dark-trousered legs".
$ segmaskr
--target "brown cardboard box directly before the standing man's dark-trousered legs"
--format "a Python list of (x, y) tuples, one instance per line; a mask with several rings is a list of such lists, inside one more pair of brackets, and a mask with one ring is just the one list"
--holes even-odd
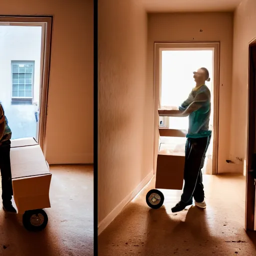
[(156, 165), (156, 189), (182, 189), (185, 163), (183, 148), (183, 144), (170, 149), (160, 148)]

